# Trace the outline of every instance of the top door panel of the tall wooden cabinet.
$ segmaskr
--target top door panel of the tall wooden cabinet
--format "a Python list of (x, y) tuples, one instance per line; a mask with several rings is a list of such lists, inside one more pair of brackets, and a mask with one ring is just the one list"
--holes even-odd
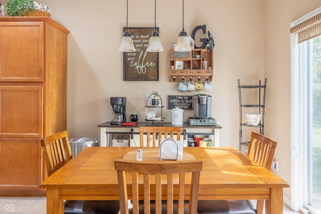
[(44, 80), (44, 23), (0, 22), (0, 81)]

